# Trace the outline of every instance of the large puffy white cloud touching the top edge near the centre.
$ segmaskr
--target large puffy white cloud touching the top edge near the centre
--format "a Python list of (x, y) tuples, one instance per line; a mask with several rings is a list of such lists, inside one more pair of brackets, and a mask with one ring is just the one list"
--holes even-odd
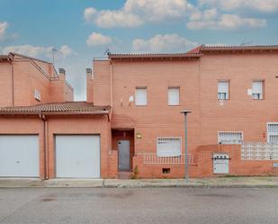
[(137, 27), (145, 22), (184, 17), (192, 8), (186, 0), (127, 0), (120, 10), (86, 8), (84, 18), (103, 28)]

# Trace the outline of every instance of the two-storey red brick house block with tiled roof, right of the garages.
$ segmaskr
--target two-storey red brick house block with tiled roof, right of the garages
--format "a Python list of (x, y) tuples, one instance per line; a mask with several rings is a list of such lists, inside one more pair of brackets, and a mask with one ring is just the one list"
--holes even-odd
[[(137, 166), (139, 177), (184, 176), (182, 158), (157, 156), (161, 137), (181, 138), (184, 154), (184, 109), (192, 111), (191, 176), (215, 175), (214, 153), (229, 155), (230, 175), (274, 175), (278, 157), (244, 159), (240, 145), (225, 138), (230, 134), (237, 139), (237, 134), (240, 141), (268, 141), (267, 123), (278, 121), (277, 52), (277, 46), (200, 46), (186, 54), (111, 54), (107, 60), (94, 60), (94, 74), (87, 74), (87, 100), (112, 106), (112, 142), (130, 140), (130, 170)], [(223, 84), (227, 98), (221, 99)], [(173, 88), (179, 99), (169, 105)], [(136, 103), (138, 89), (145, 89), (144, 105)], [(264, 154), (265, 148), (252, 150)], [(121, 153), (116, 143), (112, 151)]]

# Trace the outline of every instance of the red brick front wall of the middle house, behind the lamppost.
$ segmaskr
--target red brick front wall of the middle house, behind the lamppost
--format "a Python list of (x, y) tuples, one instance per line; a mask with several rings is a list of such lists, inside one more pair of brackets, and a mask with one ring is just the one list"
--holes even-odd
[[(135, 139), (135, 154), (155, 153), (157, 137), (184, 137), (184, 116), (180, 114), (184, 108), (193, 110), (188, 117), (190, 151), (199, 145), (195, 128), (199, 122), (198, 67), (194, 59), (112, 63), (112, 128), (134, 128), (135, 134), (142, 134), (142, 139)], [(148, 87), (147, 106), (129, 103), (137, 86)], [(179, 106), (167, 105), (168, 86), (180, 86)]]

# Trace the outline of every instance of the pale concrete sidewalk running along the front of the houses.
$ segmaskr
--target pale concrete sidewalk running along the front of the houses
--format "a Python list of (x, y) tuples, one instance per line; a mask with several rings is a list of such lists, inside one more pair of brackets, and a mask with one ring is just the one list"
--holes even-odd
[(0, 187), (277, 187), (278, 177), (218, 177), (184, 179), (10, 179), (0, 178)]

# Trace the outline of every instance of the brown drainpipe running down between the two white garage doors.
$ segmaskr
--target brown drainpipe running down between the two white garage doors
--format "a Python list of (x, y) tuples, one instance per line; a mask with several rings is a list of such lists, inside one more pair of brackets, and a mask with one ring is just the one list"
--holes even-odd
[(44, 180), (49, 179), (49, 150), (48, 150), (48, 133), (49, 122), (44, 114), (40, 114), (40, 119), (43, 121), (43, 162), (44, 162)]

